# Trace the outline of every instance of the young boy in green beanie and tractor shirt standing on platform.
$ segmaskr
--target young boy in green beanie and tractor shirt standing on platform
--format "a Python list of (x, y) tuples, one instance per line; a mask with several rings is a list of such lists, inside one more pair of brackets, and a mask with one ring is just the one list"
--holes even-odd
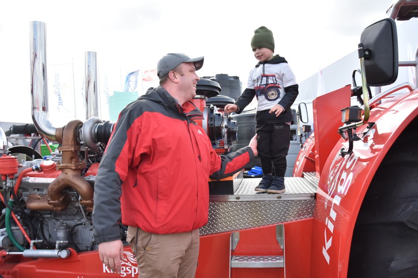
[(293, 124), (290, 106), (299, 93), (299, 86), (285, 58), (274, 55), (273, 33), (268, 28), (261, 26), (254, 31), (251, 48), (259, 63), (250, 71), (242, 95), (234, 104), (227, 104), (224, 111), (239, 114), (257, 97), (257, 150), (263, 176), (255, 191), (283, 193)]

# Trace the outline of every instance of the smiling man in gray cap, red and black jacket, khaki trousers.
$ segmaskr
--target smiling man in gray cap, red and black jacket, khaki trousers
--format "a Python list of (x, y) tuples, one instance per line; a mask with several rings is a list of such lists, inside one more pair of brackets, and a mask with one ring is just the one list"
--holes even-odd
[(123, 246), (118, 221), (141, 277), (194, 277), (199, 228), (208, 222), (208, 178), (231, 176), (257, 155), (249, 146), (219, 156), (194, 120), (203, 57), (182, 53), (157, 64), (160, 86), (120, 114), (95, 182), (93, 227), (102, 262), (120, 273)]

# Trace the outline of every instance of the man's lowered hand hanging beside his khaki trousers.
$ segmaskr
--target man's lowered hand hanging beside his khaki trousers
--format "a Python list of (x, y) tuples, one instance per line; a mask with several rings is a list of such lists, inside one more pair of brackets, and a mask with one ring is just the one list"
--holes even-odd
[(112, 272), (121, 273), (121, 260), (123, 260), (123, 245), (121, 240), (99, 243), (100, 260)]

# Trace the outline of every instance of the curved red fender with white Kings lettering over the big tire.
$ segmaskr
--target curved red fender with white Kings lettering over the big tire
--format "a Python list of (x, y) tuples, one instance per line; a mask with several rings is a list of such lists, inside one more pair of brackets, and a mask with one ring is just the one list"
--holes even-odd
[(357, 128), (362, 140), (342, 157), (348, 142), (340, 139), (324, 165), (316, 193), (313, 223), (313, 277), (346, 277), (351, 238), (367, 188), (405, 127), (418, 116), (418, 93), (404, 93), (373, 108), (367, 130)]

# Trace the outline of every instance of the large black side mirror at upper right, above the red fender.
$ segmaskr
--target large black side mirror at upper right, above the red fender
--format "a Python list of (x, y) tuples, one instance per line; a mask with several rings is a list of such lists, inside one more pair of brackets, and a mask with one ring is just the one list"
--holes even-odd
[(392, 84), (398, 76), (396, 23), (391, 18), (368, 26), (360, 37), (363, 44), (366, 80), (369, 86)]

